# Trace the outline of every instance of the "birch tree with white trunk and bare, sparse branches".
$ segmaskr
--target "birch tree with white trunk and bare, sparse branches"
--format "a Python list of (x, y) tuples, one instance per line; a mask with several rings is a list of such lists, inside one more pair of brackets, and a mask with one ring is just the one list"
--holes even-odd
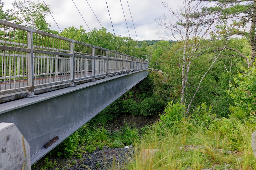
[[(186, 88), (188, 85), (188, 79), (191, 65), (195, 60), (199, 59), (199, 56), (206, 53), (210, 48), (214, 48), (217, 41), (219, 41), (223, 34), (218, 34), (217, 36), (211, 36), (213, 30), (220, 23), (218, 22), (219, 13), (216, 14), (204, 14), (203, 8), (207, 7), (209, 2), (204, 1), (193, 1), (193, 0), (182, 0), (182, 5), (178, 6), (177, 10), (172, 9), (167, 2), (163, 2), (164, 8), (168, 11), (168, 15), (162, 15), (155, 19), (157, 24), (163, 27), (164, 34), (159, 35), (162, 38), (168, 38), (171, 40), (183, 42), (183, 55), (180, 56), (180, 67), (181, 67), (181, 98), (180, 103), (185, 103), (186, 98)], [(228, 36), (226, 36), (227, 38)], [(230, 37), (230, 36), (229, 36)], [(228, 37), (228, 38), (229, 38)], [(228, 41), (228, 39), (227, 39)], [(226, 47), (226, 45), (225, 45)], [(220, 53), (225, 49), (222, 47)], [(209, 70), (214, 66), (219, 58), (219, 55), (215, 59), (206, 73), (202, 76), (201, 81), (198, 84), (198, 88), (194, 96), (190, 99), (187, 98), (186, 101), (189, 102), (187, 107), (187, 112), (191, 106), (192, 101), (200, 88), (201, 82), (209, 72)]]

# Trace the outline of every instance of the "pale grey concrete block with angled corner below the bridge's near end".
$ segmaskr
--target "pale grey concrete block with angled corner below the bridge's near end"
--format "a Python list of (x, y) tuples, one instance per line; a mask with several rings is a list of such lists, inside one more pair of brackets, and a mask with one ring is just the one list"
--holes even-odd
[(0, 169), (31, 170), (29, 144), (14, 123), (0, 123)]

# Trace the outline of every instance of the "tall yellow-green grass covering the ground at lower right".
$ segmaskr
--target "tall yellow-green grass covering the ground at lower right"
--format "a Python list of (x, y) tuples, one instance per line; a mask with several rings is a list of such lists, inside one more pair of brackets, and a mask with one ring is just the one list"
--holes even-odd
[[(223, 129), (222, 120), (218, 121), (212, 123), (214, 128), (196, 126), (186, 120), (179, 122), (176, 130), (152, 126), (140, 143), (135, 143), (133, 161), (126, 168), (256, 169), (251, 149), (255, 124), (238, 122)], [(157, 150), (152, 153), (147, 149)]]

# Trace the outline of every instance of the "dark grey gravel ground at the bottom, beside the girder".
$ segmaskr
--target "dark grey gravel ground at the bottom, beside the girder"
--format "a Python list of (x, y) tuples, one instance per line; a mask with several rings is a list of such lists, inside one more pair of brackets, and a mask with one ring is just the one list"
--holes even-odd
[[(132, 160), (134, 149), (129, 148), (103, 148), (103, 150), (96, 150), (92, 153), (83, 154), (82, 158), (58, 158), (56, 156), (48, 156), (49, 161), (57, 165), (54, 168), (47, 167), (46, 169), (65, 169), (65, 170), (103, 170), (103, 169), (125, 169), (125, 165)], [(42, 158), (36, 163), (32, 170), (40, 170), (46, 165), (44, 162), (46, 157)]]

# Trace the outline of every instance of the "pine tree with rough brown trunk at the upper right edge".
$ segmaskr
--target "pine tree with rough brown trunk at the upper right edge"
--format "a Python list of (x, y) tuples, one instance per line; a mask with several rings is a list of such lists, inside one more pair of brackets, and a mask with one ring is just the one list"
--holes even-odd
[[(231, 32), (233, 35), (247, 38), (251, 46), (251, 56), (248, 67), (252, 66), (256, 55), (256, 0), (200, 0), (215, 2), (215, 5), (204, 8), (205, 14), (220, 13), (221, 19), (232, 21), (230, 27), (225, 27), (223, 31)], [(232, 31), (230, 31), (232, 30)], [(235, 31), (234, 31), (235, 30)], [(227, 49), (237, 52), (242, 57), (243, 54), (237, 48)], [(244, 57), (246, 59), (246, 57)]]

